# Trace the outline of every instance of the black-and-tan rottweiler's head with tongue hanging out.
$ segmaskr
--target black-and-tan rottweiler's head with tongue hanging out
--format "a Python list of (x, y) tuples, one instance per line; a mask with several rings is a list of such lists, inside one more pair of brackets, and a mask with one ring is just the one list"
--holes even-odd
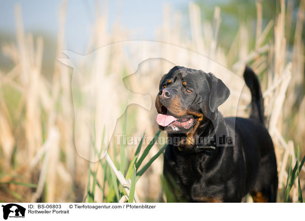
[[(175, 66), (160, 81), (157, 123), (167, 133), (200, 134), (217, 119), (230, 90), (212, 73)], [(214, 122), (213, 122), (214, 123)]]

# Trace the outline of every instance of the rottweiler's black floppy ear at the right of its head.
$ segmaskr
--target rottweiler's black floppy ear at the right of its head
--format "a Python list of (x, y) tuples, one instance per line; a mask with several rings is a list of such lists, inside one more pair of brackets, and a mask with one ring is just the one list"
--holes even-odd
[(230, 90), (222, 80), (216, 78), (212, 73), (207, 73), (206, 79), (210, 90), (209, 108), (214, 113), (228, 99)]

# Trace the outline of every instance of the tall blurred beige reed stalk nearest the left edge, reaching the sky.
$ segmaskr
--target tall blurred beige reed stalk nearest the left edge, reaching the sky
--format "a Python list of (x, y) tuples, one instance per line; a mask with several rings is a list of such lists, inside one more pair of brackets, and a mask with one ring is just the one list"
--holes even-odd
[[(40, 64), (34, 63), (35, 61), (41, 62), (42, 56), (42, 40), (38, 40), (37, 44), (37, 57), (34, 58), (34, 46), (33, 38), (28, 35), (26, 39), (24, 35), (22, 13), (20, 5), (15, 7), (16, 21), (17, 21), (17, 41), (20, 52), (21, 62), (21, 76), (20, 80), (24, 88), (26, 89), (25, 96), (25, 133), (27, 139), (27, 154), (28, 158), (32, 158), (39, 149), (42, 143), (41, 136), (41, 113), (38, 105), (38, 83), (40, 81)], [(33, 133), (35, 131), (35, 133)]]

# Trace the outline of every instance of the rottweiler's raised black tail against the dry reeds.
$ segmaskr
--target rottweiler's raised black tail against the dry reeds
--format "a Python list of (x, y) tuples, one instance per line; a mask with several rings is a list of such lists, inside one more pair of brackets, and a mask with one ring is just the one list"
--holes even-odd
[(251, 91), (251, 114), (250, 118), (264, 123), (264, 99), (258, 78), (254, 71), (247, 65), (243, 72), (243, 78)]

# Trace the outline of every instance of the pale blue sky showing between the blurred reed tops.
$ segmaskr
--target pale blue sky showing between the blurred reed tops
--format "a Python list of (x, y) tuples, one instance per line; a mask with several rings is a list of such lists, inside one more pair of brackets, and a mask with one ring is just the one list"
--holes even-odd
[[(101, 12), (105, 1), (100, 1)], [(185, 10), (186, 0), (176, 1), (108, 1), (108, 26), (120, 18), (121, 26), (131, 32), (131, 38), (153, 40), (155, 31), (162, 22), (163, 3), (169, 3), (174, 10)], [(21, 4), (22, 17), (26, 32), (44, 33), (56, 37), (59, 9), (62, 1), (2, 1), (0, 3), (0, 31), (15, 35), (14, 6)], [(121, 6), (121, 7), (118, 7)], [(68, 2), (66, 20), (67, 49), (84, 53), (85, 45), (95, 20), (95, 1), (75, 0)], [(134, 31), (132, 31), (134, 30)], [(134, 35), (133, 35), (134, 34)]]

